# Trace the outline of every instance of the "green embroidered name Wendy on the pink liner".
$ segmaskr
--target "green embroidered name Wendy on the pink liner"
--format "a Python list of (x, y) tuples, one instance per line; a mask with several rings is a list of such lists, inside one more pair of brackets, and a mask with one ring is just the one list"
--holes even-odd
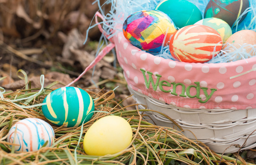
[[(210, 91), (210, 94), (208, 94), (208, 92), (207, 92), (208, 88), (207, 87), (201, 87), (200, 82), (194, 82), (196, 85), (189, 85), (186, 88), (186, 86), (183, 83), (168, 82), (166, 80), (160, 81), (160, 78), (162, 77), (160, 74), (156, 74), (157, 80), (156, 80), (156, 82), (154, 82), (154, 80), (152, 78), (152, 75), (153, 75), (152, 72), (147, 71), (147, 74), (148, 74), (148, 79), (147, 79), (146, 74), (145, 74), (146, 71), (144, 69), (140, 69), (140, 70), (141, 70), (141, 72), (143, 74), (143, 77), (145, 79), (146, 87), (149, 89), (150, 84), (151, 84), (154, 91), (156, 91), (157, 87), (159, 87), (159, 89), (162, 92), (171, 93), (175, 96), (178, 96), (176, 90), (177, 90), (177, 86), (180, 85), (181, 86), (181, 94), (179, 94), (180, 97), (197, 98), (197, 99), (199, 99), (198, 101), (200, 103), (206, 103), (212, 97), (213, 93), (215, 91), (217, 91), (217, 89), (215, 89), (215, 88), (210, 88), (211, 91)], [(167, 87), (172, 86), (172, 91), (171, 91), (171, 89), (168, 89), (168, 90), (163, 89), (163, 86), (167, 86)], [(195, 88), (195, 90), (196, 90), (195, 95), (190, 94), (191, 88)], [(201, 89), (203, 90), (203, 93), (204, 93), (205, 98), (206, 98), (204, 101), (202, 100), (202, 97), (200, 97), (200, 90)], [(186, 92), (186, 94), (185, 94), (185, 92)]]

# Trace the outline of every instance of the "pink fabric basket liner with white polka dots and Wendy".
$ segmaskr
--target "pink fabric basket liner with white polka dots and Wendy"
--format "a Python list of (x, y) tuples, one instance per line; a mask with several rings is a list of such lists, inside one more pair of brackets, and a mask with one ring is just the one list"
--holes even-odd
[(178, 107), (256, 108), (256, 57), (230, 63), (185, 63), (153, 56), (113, 37), (117, 60), (133, 90)]

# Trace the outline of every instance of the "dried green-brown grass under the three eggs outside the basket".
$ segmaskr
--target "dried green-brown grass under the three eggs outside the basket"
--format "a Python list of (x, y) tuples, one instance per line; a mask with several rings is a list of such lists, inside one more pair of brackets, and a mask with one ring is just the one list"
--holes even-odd
[[(51, 84), (53, 85), (53, 84)], [(42, 147), (36, 152), (14, 152), (6, 141), (7, 133), (17, 121), (25, 118), (39, 118), (48, 122), (43, 116), (40, 103), (53, 89), (51, 85), (38, 93), (38, 89), (22, 89), (5, 93), (0, 99), (0, 162), (1, 164), (175, 164), (187, 163), (218, 164), (220, 155), (209, 150), (199, 141), (184, 137), (172, 128), (152, 125), (143, 119), (139, 111), (125, 110), (115, 101), (114, 91), (104, 92), (97, 88), (86, 90), (95, 100), (93, 118), (80, 127), (57, 127), (53, 124), (55, 142), (51, 147)], [(37, 95), (35, 95), (37, 94)], [(31, 101), (21, 100), (35, 95)], [(14, 101), (14, 100), (21, 101)], [(134, 106), (134, 105), (130, 105)], [(135, 105), (138, 106), (138, 105)], [(89, 156), (83, 151), (83, 137), (87, 129), (99, 118), (117, 115), (127, 119), (133, 129), (133, 140), (125, 150), (105, 156)], [(81, 134), (82, 133), (82, 134)], [(235, 160), (224, 156), (226, 164)], [(242, 164), (241, 161), (237, 162)], [(248, 164), (248, 163), (247, 163)]]

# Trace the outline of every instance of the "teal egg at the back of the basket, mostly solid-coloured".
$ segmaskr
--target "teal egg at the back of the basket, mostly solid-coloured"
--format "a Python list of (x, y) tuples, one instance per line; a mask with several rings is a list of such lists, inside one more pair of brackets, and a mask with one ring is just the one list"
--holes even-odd
[(202, 13), (196, 5), (186, 0), (164, 0), (155, 9), (166, 13), (179, 28), (202, 19)]

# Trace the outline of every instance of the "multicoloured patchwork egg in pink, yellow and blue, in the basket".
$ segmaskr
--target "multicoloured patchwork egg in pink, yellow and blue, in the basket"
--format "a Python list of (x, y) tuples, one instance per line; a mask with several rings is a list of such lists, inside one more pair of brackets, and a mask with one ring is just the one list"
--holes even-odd
[(156, 10), (135, 12), (123, 23), (124, 37), (132, 45), (148, 52), (160, 52), (176, 30), (172, 20)]

